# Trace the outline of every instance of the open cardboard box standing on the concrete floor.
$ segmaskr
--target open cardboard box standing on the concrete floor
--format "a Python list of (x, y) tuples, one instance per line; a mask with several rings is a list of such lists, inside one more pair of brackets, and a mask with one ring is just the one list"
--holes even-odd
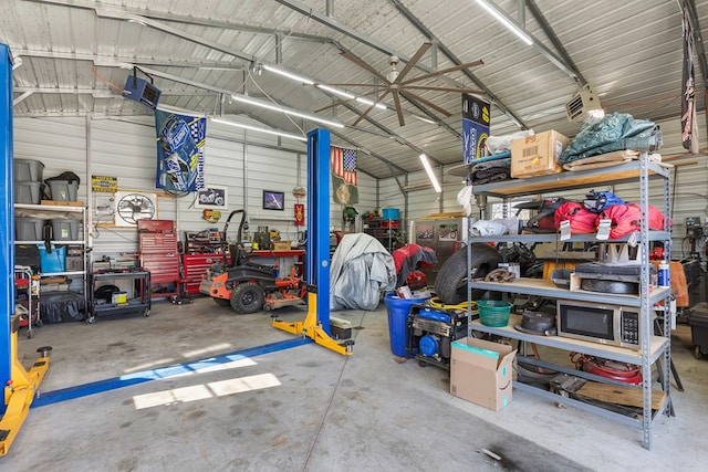
[(450, 394), (499, 411), (511, 402), (517, 350), (504, 344), (464, 338), (452, 343)]

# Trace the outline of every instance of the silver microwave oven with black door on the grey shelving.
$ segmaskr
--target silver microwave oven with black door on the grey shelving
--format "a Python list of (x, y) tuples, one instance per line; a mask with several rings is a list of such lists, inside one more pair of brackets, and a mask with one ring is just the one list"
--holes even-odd
[(638, 307), (559, 300), (556, 310), (559, 336), (641, 348), (642, 316)]

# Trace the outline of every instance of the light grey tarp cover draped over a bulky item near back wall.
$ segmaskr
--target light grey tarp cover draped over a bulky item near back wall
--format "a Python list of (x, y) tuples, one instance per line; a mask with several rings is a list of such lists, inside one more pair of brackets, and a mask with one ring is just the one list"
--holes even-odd
[(345, 234), (330, 268), (330, 310), (375, 310), (381, 291), (396, 286), (394, 258), (375, 238)]

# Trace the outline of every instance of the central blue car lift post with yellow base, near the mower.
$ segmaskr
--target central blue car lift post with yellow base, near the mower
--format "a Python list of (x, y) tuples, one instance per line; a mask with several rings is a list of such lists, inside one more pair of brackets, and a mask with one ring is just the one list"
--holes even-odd
[(330, 132), (326, 129), (308, 133), (306, 276), (305, 319), (287, 323), (278, 319), (278, 315), (272, 315), (272, 325), (351, 356), (353, 340), (340, 344), (330, 337)]

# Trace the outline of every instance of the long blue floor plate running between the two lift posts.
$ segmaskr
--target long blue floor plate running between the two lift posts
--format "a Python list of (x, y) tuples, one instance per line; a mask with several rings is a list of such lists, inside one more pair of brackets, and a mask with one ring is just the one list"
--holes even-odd
[(147, 381), (166, 379), (180, 374), (199, 371), (207, 367), (231, 363), (233, 360), (239, 360), (247, 357), (256, 357), (263, 354), (275, 353), (278, 350), (290, 349), (292, 347), (298, 347), (310, 343), (312, 343), (312, 339), (309, 337), (281, 340), (278, 343), (266, 344), (263, 346), (237, 350), (231, 354), (223, 354), (221, 356), (208, 357), (205, 359), (192, 360), (183, 364), (175, 364), (158, 369), (143, 370), (139, 373), (127, 374), (121, 377), (114, 377), (105, 380), (98, 380), (90, 384), (52, 390), (42, 394), (39, 398), (35, 398), (34, 401), (32, 401), (31, 408), (43, 407), (45, 405), (58, 403), (60, 401), (73, 400), (75, 398), (87, 397), (90, 395), (101, 394), (108, 390), (145, 384)]

